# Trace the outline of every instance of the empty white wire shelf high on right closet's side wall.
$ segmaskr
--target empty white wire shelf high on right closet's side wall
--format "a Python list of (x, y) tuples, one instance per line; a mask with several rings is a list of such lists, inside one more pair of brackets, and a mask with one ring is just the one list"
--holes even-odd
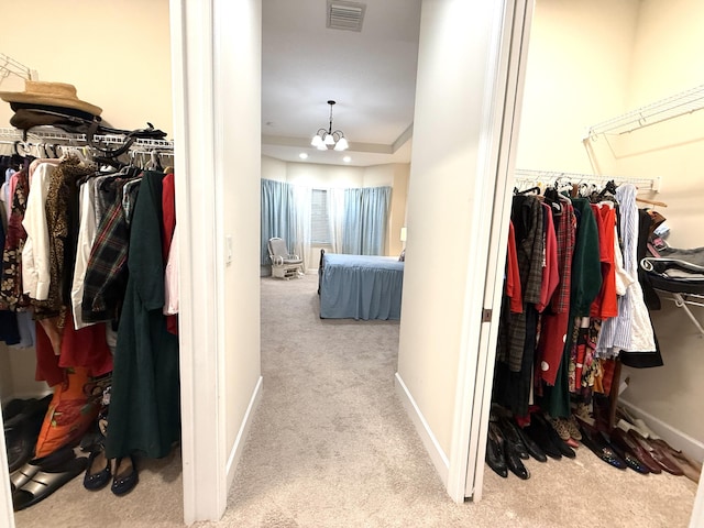
[(704, 85), (594, 124), (587, 129), (584, 141), (595, 140), (600, 134), (627, 134), (634, 130), (693, 113), (703, 108)]

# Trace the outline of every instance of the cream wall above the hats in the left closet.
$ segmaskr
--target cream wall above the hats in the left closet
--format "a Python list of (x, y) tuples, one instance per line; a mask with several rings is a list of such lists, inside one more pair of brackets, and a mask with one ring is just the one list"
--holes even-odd
[[(112, 127), (148, 121), (173, 133), (168, 0), (2, 2), (2, 20), (0, 53), (38, 80), (74, 85)], [(12, 77), (0, 90), (22, 91), (24, 82)], [(12, 110), (0, 102), (0, 127), (9, 127)]]

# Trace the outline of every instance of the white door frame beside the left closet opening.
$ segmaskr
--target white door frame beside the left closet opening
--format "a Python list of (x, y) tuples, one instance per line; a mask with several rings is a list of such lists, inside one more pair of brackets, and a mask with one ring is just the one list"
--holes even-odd
[(222, 273), (218, 221), (216, 1), (169, 1), (184, 521), (227, 506)]

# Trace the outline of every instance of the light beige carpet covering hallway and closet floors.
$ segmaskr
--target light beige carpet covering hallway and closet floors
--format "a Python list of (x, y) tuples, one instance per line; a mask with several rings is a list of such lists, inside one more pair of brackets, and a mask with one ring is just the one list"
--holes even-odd
[[(262, 278), (264, 388), (230, 491), (206, 527), (686, 527), (696, 485), (575, 460), (528, 461), (528, 481), (488, 468), (484, 499), (454, 504), (396, 397), (398, 323), (321, 320), (317, 276)], [(76, 479), (16, 514), (18, 528), (180, 526), (178, 451), (125, 497)]]

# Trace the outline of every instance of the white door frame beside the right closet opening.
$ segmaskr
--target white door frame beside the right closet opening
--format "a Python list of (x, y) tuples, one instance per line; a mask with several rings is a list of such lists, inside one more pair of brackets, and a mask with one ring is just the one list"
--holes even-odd
[(487, 140), (482, 145), (484, 155), (477, 169), (479, 178), (486, 182), (483, 186), (486, 210), (481, 216), (480, 232), (476, 233), (481, 240), (477, 254), (486, 254), (486, 260), (475, 258), (470, 263), (474, 268), (469, 273), (469, 276), (476, 277), (473, 295), (483, 296), (483, 309), (491, 310), (492, 316), (482, 318), (480, 323), (480, 315), (468, 314), (472, 320), (466, 324), (479, 323), (481, 329), (476, 352), (471, 350), (472, 345), (476, 346), (476, 341), (465, 341), (464, 381), (458, 384), (453, 452), (464, 449), (466, 455), (462, 452), (462, 458), (451, 461), (454, 471), (451, 469), (450, 474), (454, 475), (454, 480), (450, 481), (450, 485), (454, 487), (448, 491), (457, 502), (465, 498), (477, 502), (482, 498), (513, 173), (532, 7), (532, 0), (506, 0), (503, 10), (497, 13), (494, 29), (495, 48), (492, 57), (495, 57), (495, 72), (486, 89), (487, 133), (484, 136)]

